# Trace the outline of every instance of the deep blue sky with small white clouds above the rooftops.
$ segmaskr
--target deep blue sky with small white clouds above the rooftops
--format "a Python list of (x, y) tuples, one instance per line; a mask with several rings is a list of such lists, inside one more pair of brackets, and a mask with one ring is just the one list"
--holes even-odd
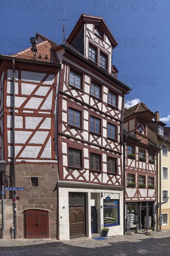
[(0, 53), (30, 47), (36, 32), (60, 44), (64, 3), (66, 37), (85, 13), (103, 17), (116, 38), (113, 64), (132, 88), (126, 107), (143, 101), (170, 126), (170, 1), (1, 0)]

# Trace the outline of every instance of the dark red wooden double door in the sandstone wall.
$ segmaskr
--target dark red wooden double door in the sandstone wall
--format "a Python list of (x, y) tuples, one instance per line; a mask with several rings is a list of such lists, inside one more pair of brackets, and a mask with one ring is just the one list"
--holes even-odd
[(25, 210), (25, 238), (49, 238), (48, 211)]

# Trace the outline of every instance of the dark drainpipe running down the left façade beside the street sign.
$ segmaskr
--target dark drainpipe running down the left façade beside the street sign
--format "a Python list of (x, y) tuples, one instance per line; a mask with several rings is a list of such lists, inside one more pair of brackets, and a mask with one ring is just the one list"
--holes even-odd
[[(13, 186), (15, 187), (15, 59), (13, 61)], [(14, 239), (17, 238), (17, 204), (16, 191), (13, 191)]]

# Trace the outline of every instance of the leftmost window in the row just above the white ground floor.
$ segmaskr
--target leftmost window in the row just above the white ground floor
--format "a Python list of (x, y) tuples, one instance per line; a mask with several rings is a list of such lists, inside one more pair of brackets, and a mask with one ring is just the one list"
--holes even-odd
[(75, 148), (69, 148), (69, 167), (81, 168), (81, 151)]

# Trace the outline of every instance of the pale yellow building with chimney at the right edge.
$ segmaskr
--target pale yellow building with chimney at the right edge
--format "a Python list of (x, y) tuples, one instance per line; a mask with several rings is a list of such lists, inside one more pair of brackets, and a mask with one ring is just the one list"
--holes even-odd
[[(160, 148), (158, 154), (158, 189), (157, 202), (164, 202), (164, 196), (170, 197), (170, 127), (159, 120), (159, 112), (155, 112), (154, 121), (148, 123), (148, 134)], [(162, 225), (159, 226), (159, 216), (163, 215)], [(160, 205), (157, 211), (158, 229), (170, 229), (170, 199)]]

